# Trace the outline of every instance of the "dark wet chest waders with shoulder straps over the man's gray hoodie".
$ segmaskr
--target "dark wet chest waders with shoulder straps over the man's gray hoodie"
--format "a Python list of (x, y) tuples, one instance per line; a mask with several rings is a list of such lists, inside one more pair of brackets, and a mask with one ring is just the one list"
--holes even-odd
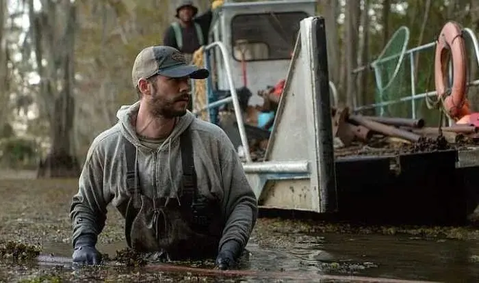
[(136, 148), (130, 142), (125, 143), (129, 193), (124, 215), (125, 237), (128, 246), (138, 252), (166, 252), (172, 260), (211, 258), (218, 253), (224, 221), (218, 202), (198, 193), (190, 128), (181, 134), (180, 148), (183, 166), (180, 204), (176, 199), (165, 204), (168, 196), (152, 199), (142, 193), (135, 172)]

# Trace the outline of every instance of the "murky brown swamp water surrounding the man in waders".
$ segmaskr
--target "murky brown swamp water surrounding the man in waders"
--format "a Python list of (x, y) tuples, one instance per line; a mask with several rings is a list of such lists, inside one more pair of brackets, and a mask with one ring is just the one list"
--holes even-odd
[[(77, 185), (76, 179), (0, 180), (0, 240), (38, 243), (43, 254), (69, 260), (68, 210)], [(116, 250), (125, 247), (122, 225), (120, 214), (109, 208), (107, 224), (99, 237), (101, 252), (113, 257)], [(446, 237), (460, 240), (443, 239)], [(315, 221), (259, 219), (248, 245), (249, 257), (240, 262), (243, 273), (237, 276), (125, 267), (73, 272), (68, 264), (12, 265), (0, 260), (0, 282), (339, 282), (321, 278), (324, 274), (479, 282), (478, 243), (479, 232), (471, 228), (353, 228)]]

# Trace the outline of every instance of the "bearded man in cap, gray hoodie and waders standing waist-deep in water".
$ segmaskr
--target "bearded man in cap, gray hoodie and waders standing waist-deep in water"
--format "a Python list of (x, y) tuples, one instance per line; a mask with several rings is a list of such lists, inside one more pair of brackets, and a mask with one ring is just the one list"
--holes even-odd
[(129, 247), (149, 258), (215, 258), (230, 269), (257, 219), (257, 200), (229, 137), (187, 111), (189, 79), (206, 69), (170, 46), (135, 59), (140, 100), (92, 142), (73, 197), (73, 262), (97, 264), (107, 205), (125, 218)]

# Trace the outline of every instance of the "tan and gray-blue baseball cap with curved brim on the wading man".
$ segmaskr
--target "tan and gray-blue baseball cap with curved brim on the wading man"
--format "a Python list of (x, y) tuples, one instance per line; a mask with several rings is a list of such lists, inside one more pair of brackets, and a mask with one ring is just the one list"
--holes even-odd
[(206, 79), (209, 77), (209, 71), (188, 64), (185, 55), (178, 49), (170, 46), (148, 46), (136, 56), (131, 70), (131, 82), (136, 87), (140, 79), (148, 79), (153, 75)]

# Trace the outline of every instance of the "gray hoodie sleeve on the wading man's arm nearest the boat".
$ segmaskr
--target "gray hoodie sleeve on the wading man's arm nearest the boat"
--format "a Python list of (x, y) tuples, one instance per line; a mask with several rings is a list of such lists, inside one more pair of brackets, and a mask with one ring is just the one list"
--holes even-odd
[(222, 205), (226, 224), (219, 249), (231, 240), (237, 241), (244, 249), (256, 224), (258, 205), (237, 152), (226, 134), (222, 139), (220, 159), (224, 189)]

